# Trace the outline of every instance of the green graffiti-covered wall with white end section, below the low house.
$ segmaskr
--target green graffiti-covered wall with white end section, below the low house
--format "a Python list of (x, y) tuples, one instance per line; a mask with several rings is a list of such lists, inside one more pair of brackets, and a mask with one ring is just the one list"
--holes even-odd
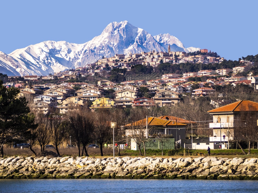
[[(136, 144), (137, 139), (131, 139), (131, 150), (139, 150), (138, 145)], [(152, 150), (172, 150), (175, 149), (175, 139), (174, 138), (162, 138), (162, 139), (149, 139), (145, 142), (145, 149)], [(140, 145), (140, 148), (143, 149), (143, 142)]]

